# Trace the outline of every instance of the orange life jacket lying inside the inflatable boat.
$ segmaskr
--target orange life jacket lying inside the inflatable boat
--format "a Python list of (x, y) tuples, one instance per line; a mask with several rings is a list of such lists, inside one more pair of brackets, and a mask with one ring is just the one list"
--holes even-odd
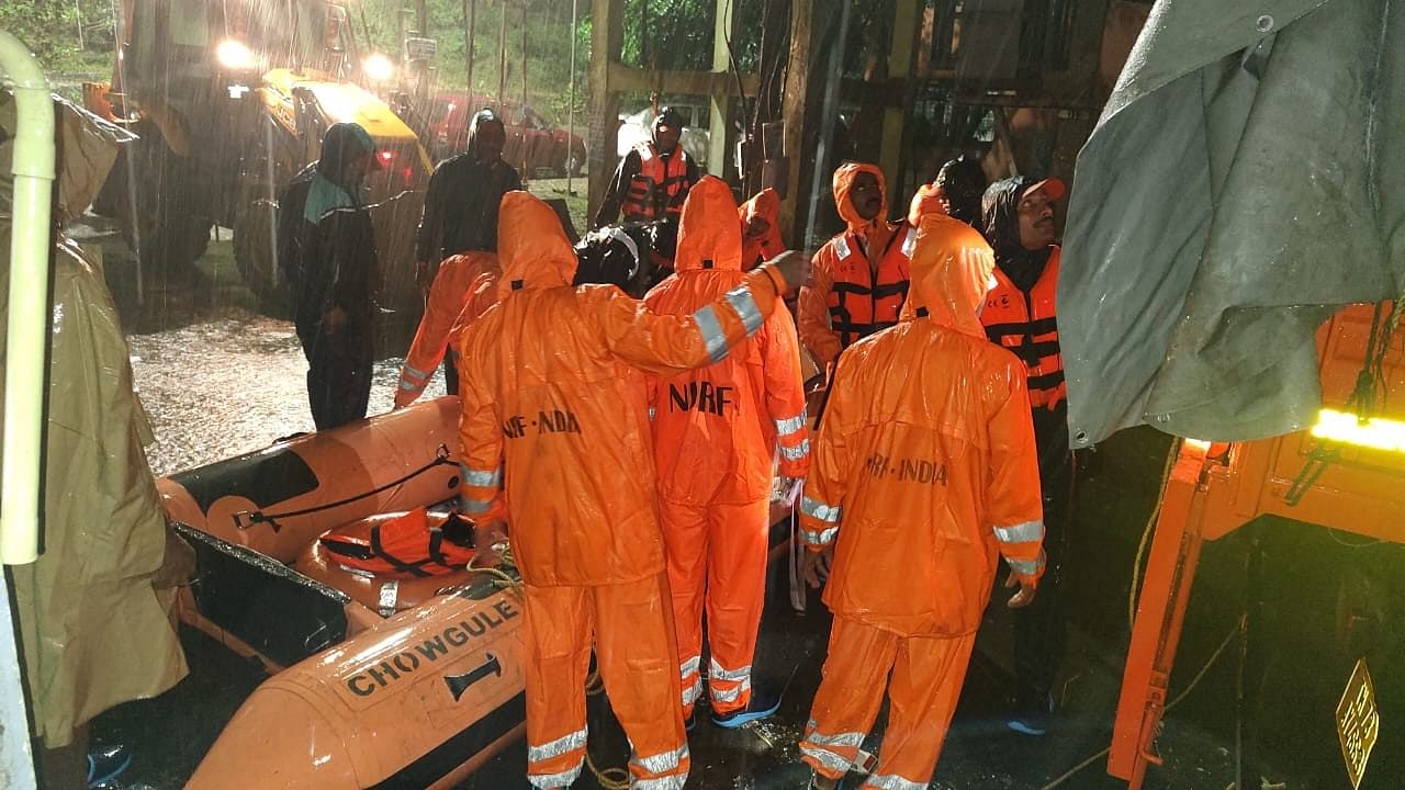
[[(357, 529), (361, 527), (361, 529)], [(473, 526), (457, 513), (430, 516), (424, 507), (371, 516), (318, 538), (339, 565), (377, 576), (440, 576), (473, 558)]]

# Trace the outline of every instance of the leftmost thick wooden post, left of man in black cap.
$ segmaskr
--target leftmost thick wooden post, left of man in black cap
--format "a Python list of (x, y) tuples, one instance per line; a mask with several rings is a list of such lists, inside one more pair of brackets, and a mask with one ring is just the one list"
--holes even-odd
[(624, 44), (622, 6), (624, 0), (590, 0), (590, 146), (586, 157), (590, 218), (618, 164), (620, 96), (610, 80), (610, 65), (618, 60)]

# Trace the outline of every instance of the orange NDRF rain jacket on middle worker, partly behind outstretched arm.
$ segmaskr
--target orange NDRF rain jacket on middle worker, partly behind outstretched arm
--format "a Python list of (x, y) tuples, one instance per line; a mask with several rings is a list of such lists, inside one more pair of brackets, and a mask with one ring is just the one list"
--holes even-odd
[[(643, 302), (660, 315), (690, 315), (738, 287), (742, 235), (732, 190), (704, 177), (683, 205), (672, 277)], [(780, 441), (781, 474), (804, 477), (809, 427), (799, 378), (799, 343), (785, 311), (776, 311), (746, 344), (711, 367), (651, 377), (653, 457), (660, 493), (686, 505), (767, 499)]]

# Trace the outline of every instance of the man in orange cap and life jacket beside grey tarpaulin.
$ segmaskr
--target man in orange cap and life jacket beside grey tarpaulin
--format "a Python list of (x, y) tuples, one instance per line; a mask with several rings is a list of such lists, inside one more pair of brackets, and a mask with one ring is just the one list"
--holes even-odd
[(991, 342), (1024, 361), (1044, 491), (1048, 569), (1040, 597), (1016, 613), (1019, 689), (1007, 723), (1010, 730), (1026, 735), (1043, 735), (1048, 728), (1054, 676), (1064, 654), (1058, 590), (1073, 498), (1073, 454), (1054, 305), (1059, 266), (1054, 202), (1064, 193), (1058, 179), (1013, 177), (991, 184), (981, 201), (984, 231), (996, 263), (996, 285), (986, 295), (981, 323)]

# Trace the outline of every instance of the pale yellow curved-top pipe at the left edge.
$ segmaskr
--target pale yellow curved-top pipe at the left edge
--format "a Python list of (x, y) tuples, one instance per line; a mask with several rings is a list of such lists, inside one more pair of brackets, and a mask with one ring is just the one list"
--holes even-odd
[(39, 558), (44, 474), (44, 385), (49, 350), (49, 254), (53, 226), (53, 100), (30, 49), (0, 31), (0, 76), (14, 89), (14, 216), (10, 231), (10, 318), (4, 370), (4, 479), (0, 562)]

